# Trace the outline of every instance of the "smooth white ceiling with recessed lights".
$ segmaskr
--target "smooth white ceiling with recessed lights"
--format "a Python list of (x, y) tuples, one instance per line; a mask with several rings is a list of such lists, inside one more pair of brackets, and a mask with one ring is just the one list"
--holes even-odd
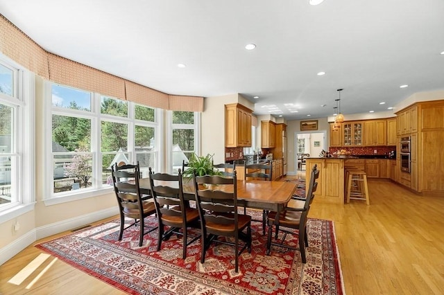
[(443, 0), (0, 0), (0, 13), (51, 53), (166, 93), (241, 93), (287, 120), (332, 116), (339, 88), (345, 116), (444, 89)]

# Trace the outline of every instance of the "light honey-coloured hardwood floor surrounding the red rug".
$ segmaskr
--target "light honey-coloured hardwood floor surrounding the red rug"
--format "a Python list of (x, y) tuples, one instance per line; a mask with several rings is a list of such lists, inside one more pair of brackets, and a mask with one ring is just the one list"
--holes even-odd
[[(418, 196), (390, 181), (368, 187), (370, 206), (315, 199), (309, 214), (334, 221), (345, 293), (444, 294), (444, 196)], [(0, 294), (122, 294), (60, 260), (26, 289), (52, 256), (22, 284), (8, 283), (40, 253), (30, 246), (0, 267)]]

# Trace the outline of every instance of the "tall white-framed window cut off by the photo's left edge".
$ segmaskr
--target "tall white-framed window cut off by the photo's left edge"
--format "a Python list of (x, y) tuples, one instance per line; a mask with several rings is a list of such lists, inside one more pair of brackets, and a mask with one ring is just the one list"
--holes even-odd
[(30, 75), (0, 55), (0, 222), (16, 209), (31, 210), (35, 198)]

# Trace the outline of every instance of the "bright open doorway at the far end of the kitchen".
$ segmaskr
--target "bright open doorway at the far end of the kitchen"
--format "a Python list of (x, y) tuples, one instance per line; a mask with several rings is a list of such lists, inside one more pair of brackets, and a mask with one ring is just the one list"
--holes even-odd
[(327, 141), (325, 140), (327, 136), (326, 131), (319, 132), (297, 132), (294, 136), (295, 143), (295, 163), (294, 167), (296, 172), (305, 171), (305, 161), (302, 159), (304, 157), (317, 158), (323, 150), (327, 149)]

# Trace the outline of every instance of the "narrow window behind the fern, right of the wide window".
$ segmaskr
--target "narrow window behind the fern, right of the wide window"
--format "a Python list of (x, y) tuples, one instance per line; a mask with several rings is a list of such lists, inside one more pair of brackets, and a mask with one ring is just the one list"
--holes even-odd
[(171, 115), (171, 171), (178, 172), (182, 161), (198, 154), (198, 123), (200, 116), (193, 111), (170, 111)]

